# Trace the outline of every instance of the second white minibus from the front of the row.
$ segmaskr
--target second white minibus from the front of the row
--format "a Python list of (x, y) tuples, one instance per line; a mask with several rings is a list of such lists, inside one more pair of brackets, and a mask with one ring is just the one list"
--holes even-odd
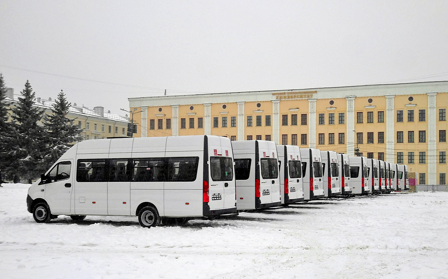
[(233, 141), (237, 210), (280, 206), (280, 176), (275, 142)]

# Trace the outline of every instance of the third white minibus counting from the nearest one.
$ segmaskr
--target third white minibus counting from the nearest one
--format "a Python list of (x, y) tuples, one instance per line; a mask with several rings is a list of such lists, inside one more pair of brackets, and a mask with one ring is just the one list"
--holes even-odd
[(302, 159), (300, 149), (293, 145), (277, 145), (280, 165), (281, 203), (303, 201)]

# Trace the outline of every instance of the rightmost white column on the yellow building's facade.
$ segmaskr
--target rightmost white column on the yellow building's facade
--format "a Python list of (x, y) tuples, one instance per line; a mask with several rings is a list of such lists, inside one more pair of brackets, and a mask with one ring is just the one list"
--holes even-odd
[(435, 95), (437, 92), (426, 93), (428, 95), (428, 184), (437, 184), (437, 109)]

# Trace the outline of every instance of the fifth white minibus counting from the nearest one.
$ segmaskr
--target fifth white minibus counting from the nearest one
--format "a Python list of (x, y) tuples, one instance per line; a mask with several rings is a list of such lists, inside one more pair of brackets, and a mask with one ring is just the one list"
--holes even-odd
[(339, 164), (335, 151), (320, 151), (323, 169), (323, 193), (325, 197), (336, 197), (341, 194), (339, 180)]

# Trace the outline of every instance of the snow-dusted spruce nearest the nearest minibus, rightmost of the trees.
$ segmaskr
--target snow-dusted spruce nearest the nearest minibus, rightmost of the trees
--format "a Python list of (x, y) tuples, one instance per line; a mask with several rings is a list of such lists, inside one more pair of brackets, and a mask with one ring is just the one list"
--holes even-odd
[(81, 140), (81, 129), (73, 125), (73, 120), (67, 118), (71, 103), (67, 102), (62, 90), (52, 105), (52, 113), (45, 117), (44, 127), (47, 130), (47, 142), (45, 156), (41, 161), (40, 168), (45, 172), (52, 166), (65, 151), (73, 146), (74, 142)]

